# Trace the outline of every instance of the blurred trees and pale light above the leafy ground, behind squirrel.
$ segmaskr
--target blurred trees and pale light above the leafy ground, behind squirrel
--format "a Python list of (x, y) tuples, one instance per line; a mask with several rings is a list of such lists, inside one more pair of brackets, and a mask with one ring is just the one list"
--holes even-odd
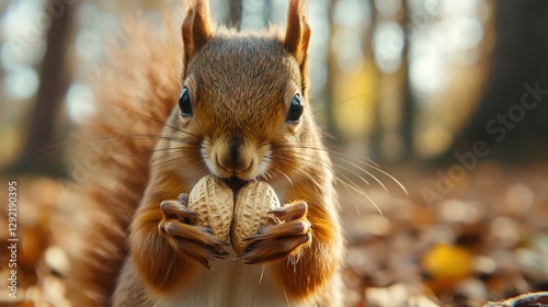
[[(93, 107), (90, 76), (124, 15), (141, 11), (161, 20), (165, 10), (182, 11), (180, 2), (2, 1), (0, 167), (36, 171), (44, 148), (85, 121)], [(286, 7), (275, 0), (212, 1), (214, 20), (240, 29), (283, 22)], [(545, 103), (518, 105), (532, 87), (548, 88), (546, 7), (310, 1), (316, 115), (338, 146), (385, 162), (450, 163), (476, 140), (493, 145), (491, 159), (543, 159)], [(526, 102), (540, 102), (546, 93), (537, 92)], [(491, 120), (496, 123), (488, 125)], [(49, 166), (41, 170), (59, 171), (60, 163)]]

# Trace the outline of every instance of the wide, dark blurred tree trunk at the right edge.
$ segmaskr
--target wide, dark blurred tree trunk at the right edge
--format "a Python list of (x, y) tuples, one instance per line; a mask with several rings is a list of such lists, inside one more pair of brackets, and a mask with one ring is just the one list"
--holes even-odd
[(442, 162), (454, 162), (467, 152), (469, 163), (547, 157), (548, 2), (495, 3), (496, 43), (483, 96), (460, 135), (441, 156)]

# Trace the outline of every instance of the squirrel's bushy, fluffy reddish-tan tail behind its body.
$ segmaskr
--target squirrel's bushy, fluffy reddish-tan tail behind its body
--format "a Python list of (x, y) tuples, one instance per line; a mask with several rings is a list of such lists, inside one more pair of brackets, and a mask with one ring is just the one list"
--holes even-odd
[(182, 71), (178, 26), (142, 18), (126, 22), (126, 37), (109, 48), (94, 83), (96, 109), (77, 136), (90, 174), (76, 179), (71, 206), (82, 249), (72, 261), (68, 296), (75, 307), (110, 306), (127, 257), (128, 226), (141, 200), (149, 161), (165, 118), (176, 103)]

